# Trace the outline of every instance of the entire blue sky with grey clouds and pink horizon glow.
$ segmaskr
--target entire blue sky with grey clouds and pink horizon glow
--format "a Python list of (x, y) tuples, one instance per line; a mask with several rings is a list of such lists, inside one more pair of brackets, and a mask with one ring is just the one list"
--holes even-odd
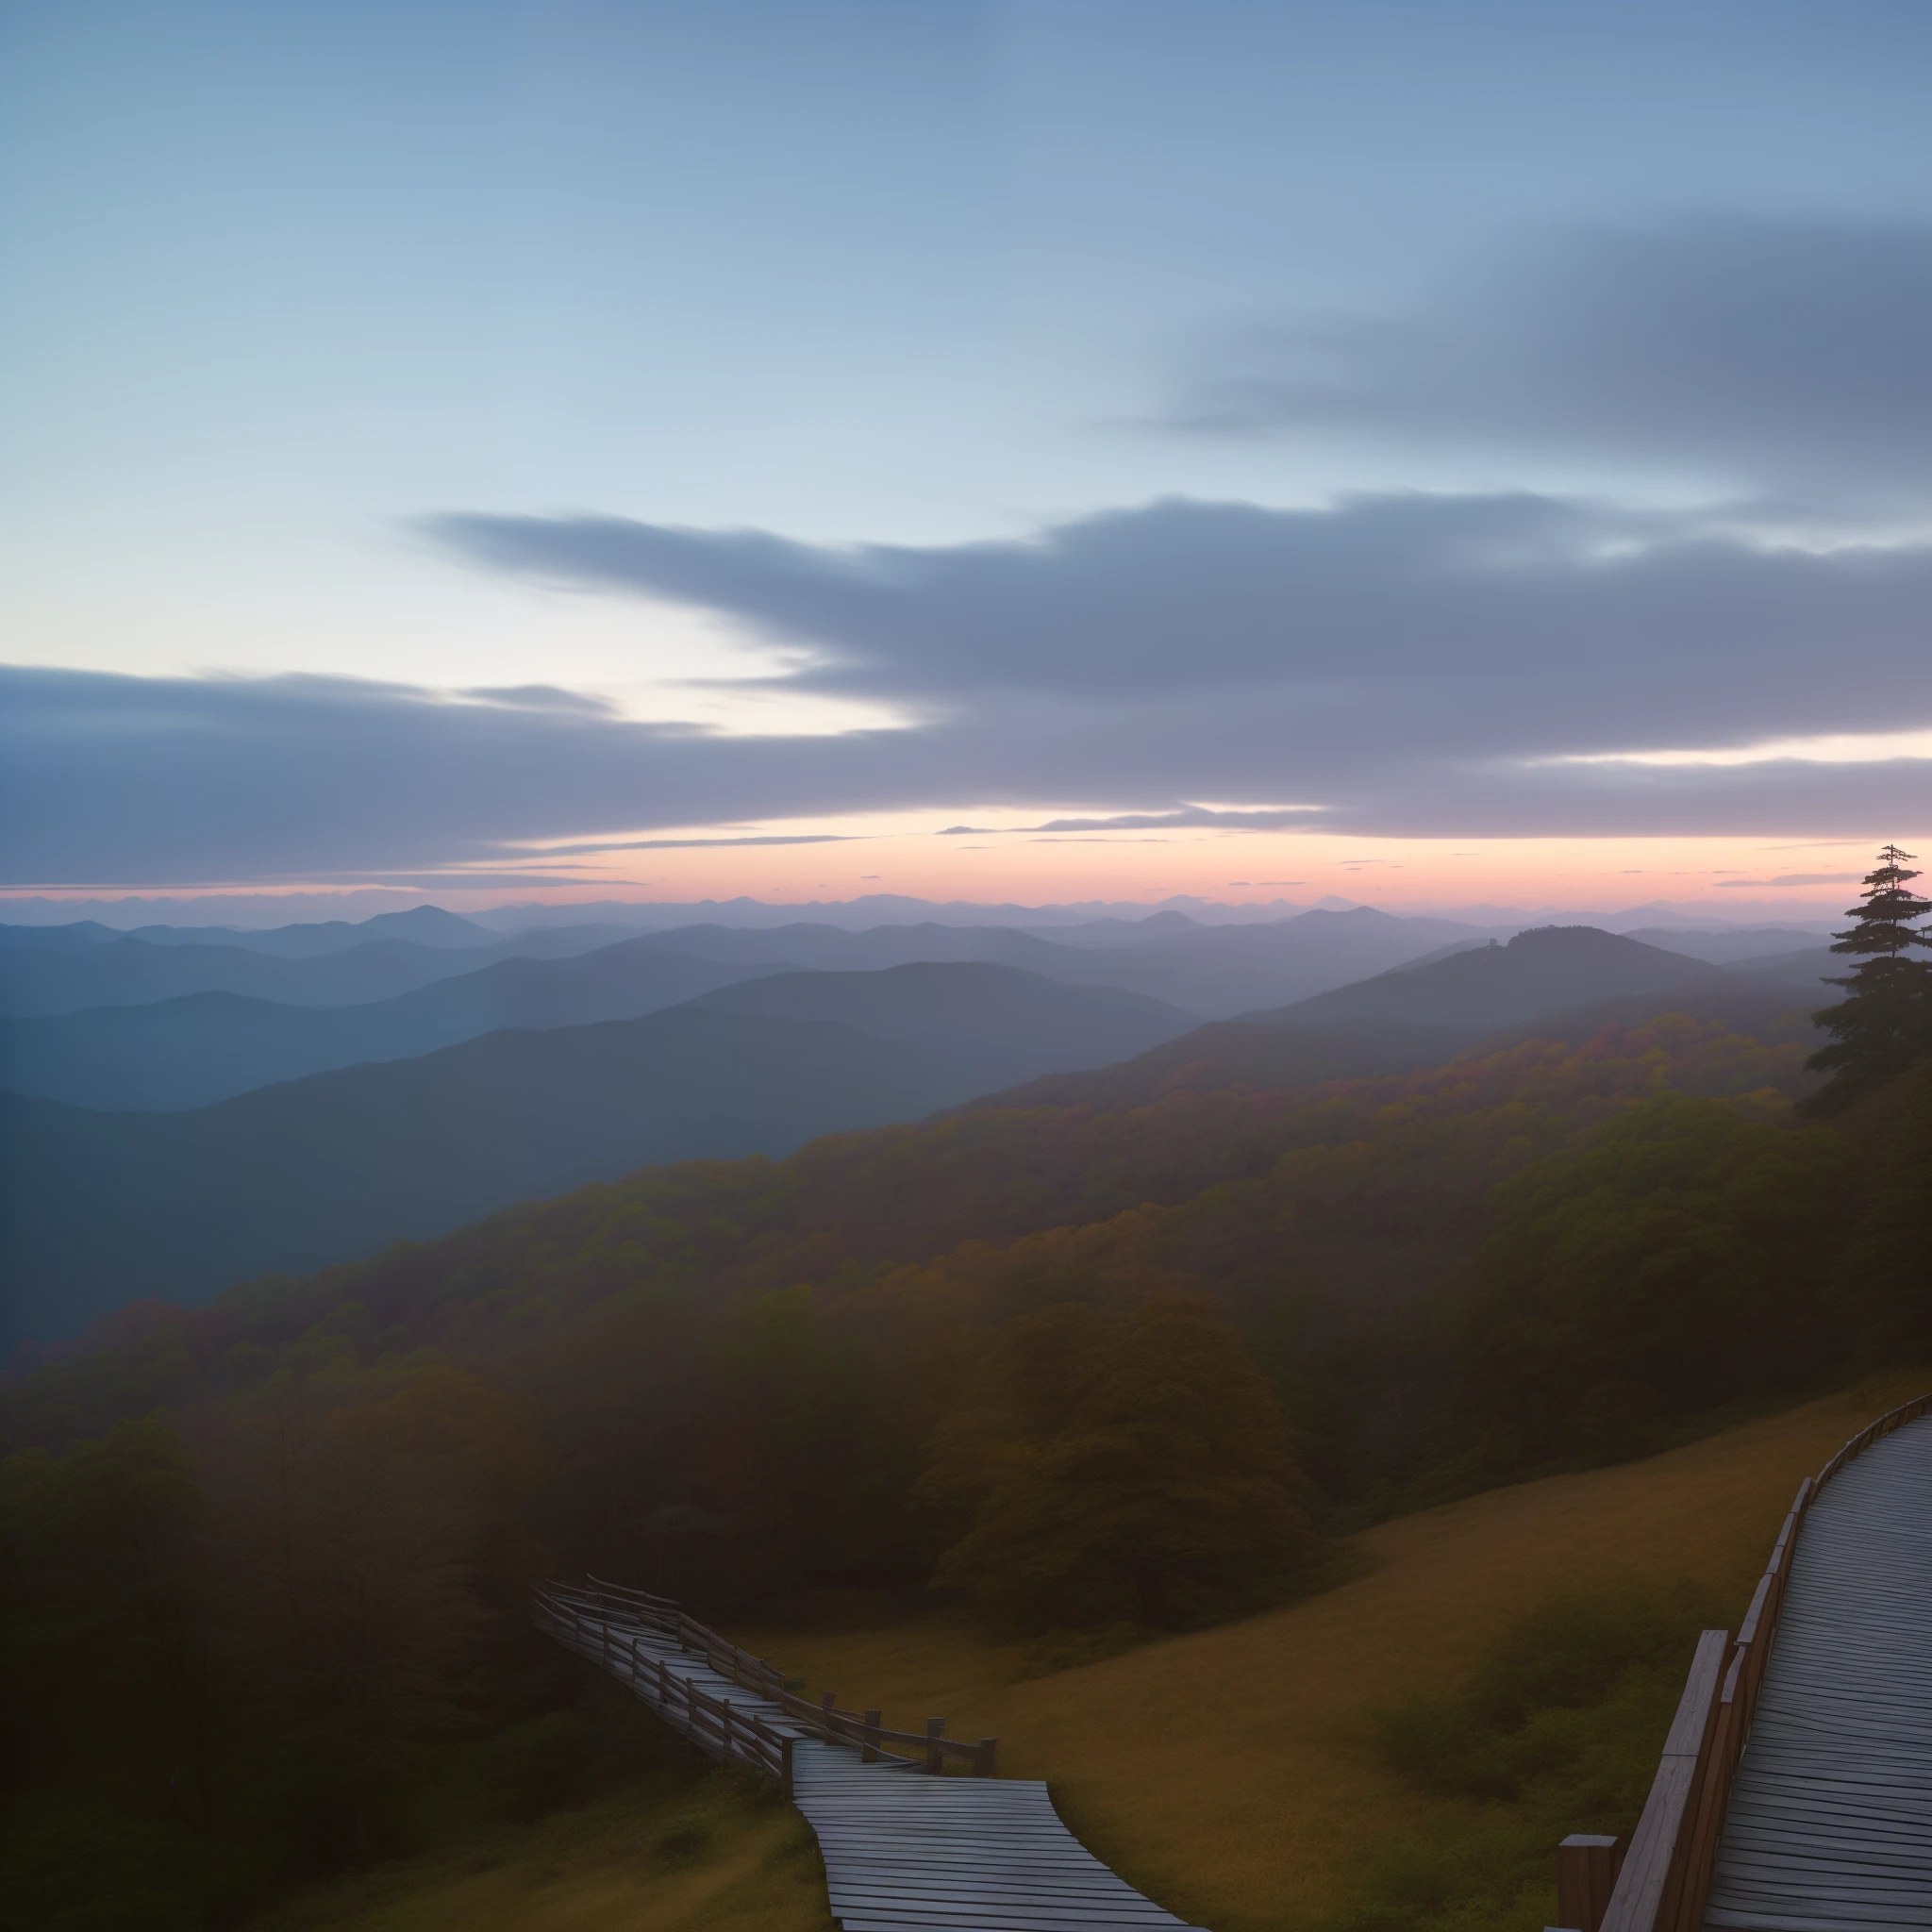
[(1932, 840), (1928, 71), (8, 0), (0, 893), (1832, 910)]

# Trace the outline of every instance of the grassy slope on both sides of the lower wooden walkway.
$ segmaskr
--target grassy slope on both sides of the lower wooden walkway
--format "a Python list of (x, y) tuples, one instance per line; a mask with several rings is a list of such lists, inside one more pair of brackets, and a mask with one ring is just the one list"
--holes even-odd
[[(1922, 1372), (1880, 1378), (1646, 1463), (1387, 1522), (1360, 1538), (1374, 1567), (1323, 1596), (1053, 1677), (1014, 1681), (1010, 1650), (947, 1615), (732, 1634), (813, 1689), (838, 1690), (848, 1708), (883, 1706), (887, 1723), (918, 1729), (945, 1712), (956, 1737), (997, 1735), (1007, 1776), (1049, 1777), (1082, 1839), (1190, 1924), (1304, 1926), (1343, 1903), (1350, 1859), (1424, 1816), (1366, 1748), (1366, 1708), (1453, 1685), (1513, 1615), (1598, 1578), (1689, 1577), (1741, 1613), (1799, 1478), (1922, 1387)], [(386, 1903), (342, 1889), (340, 1909), (315, 1899), (272, 1924), (827, 1926), (815, 1861), (796, 1833), (742, 1799), (709, 1803), (707, 1849), (682, 1864), (651, 1849), (665, 1816), (645, 1828), (607, 1808), (533, 1828), (527, 1843), (498, 1847), (504, 1862), (491, 1870), (425, 1862), (386, 1880)]]

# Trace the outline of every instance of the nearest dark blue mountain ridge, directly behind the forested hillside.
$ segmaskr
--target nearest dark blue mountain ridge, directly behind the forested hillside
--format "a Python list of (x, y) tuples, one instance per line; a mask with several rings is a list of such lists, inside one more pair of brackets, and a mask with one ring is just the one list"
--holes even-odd
[(647, 1163), (788, 1153), (1188, 1024), (1113, 989), (923, 964), (493, 1032), (182, 1113), (0, 1095), (6, 1333), (73, 1333), (129, 1300), (352, 1262)]

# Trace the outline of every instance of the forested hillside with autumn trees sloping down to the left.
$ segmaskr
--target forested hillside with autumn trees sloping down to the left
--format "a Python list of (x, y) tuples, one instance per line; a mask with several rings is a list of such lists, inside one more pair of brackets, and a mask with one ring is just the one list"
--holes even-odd
[[(1861, 1122), (1922, 1138), (1932, 1107), (1907, 1082), (1803, 1124), (1803, 1057), (1662, 1018), (1406, 1076), (974, 1109), (126, 1310), (4, 1403), (6, 1615), (44, 1687), (15, 1762), (102, 1843), (214, 1847), (230, 1911), (421, 1841), (410, 1777), (549, 1721), (520, 1607), (545, 1571), (713, 1615), (937, 1580), (1119, 1644), (1304, 1588), (1349, 1524), (1795, 1399), (1926, 1341), (1922, 1188), (1866, 1184)], [(1028, 1524), (1105, 1501), (1146, 1542), (1179, 1507), (1095, 1461), (1109, 1432), (1157, 1447), (1242, 1405), (1244, 1455), (1190, 1492), (1219, 1557), (1150, 1588), (1094, 1546), (1018, 1580)]]

